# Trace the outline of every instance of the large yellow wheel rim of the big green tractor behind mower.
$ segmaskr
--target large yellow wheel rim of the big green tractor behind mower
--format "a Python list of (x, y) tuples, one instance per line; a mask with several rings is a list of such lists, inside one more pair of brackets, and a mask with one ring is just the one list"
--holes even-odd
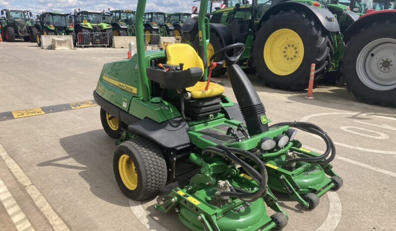
[(272, 73), (289, 75), (300, 67), (304, 58), (304, 44), (290, 29), (273, 32), (264, 45), (264, 62)]

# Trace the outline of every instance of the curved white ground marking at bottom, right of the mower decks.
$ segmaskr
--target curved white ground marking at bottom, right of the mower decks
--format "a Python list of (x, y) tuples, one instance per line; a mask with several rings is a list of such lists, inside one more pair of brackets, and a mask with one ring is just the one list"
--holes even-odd
[(329, 213), (325, 222), (323, 222), (317, 231), (333, 231), (335, 228), (337, 228), (339, 222), (341, 221), (342, 206), (338, 194), (331, 191), (327, 192), (326, 194), (329, 198)]

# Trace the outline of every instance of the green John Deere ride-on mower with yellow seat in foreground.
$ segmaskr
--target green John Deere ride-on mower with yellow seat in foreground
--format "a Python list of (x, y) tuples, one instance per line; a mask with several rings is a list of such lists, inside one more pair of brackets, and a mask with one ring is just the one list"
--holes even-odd
[[(156, 209), (174, 209), (194, 231), (258, 231), (281, 230), (288, 221), (271, 191), (312, 209), (320, 196), (341, 187), (326, 132), (308, 122), (268, 125), (263, 103), (236, 64), (244, 44), (207, 58), (207, 0), (200, 1), (198, 53), (188, 44), (145, 52), (145, 3), (137, 3), (137, 54), (105, 64), (93, 93), (104, 130), (118, 138), (113, 167), (126, 196), (152, 198), (178, 181), (180, 186), (157, 198)], [(214, 62), (217, 56), (224, 60)], [(210, 81), (216, 65), (227, 68), (239, 105)], [(302, 148), (292, 127), (322, 137), (326, 152)], [(265, 204), (275, 213), (268, 216)]]

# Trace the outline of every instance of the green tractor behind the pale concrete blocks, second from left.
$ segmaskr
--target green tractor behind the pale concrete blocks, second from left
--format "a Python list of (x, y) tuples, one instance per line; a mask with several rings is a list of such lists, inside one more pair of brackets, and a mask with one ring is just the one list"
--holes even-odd
[(41, 35), (70, 35), (75, 46), (77, 36), (70, 16), (69, 13), (57, 12), (43, 12), (38, 15), (38, 22), (35, 24), (36, 29), (39, 31), (37, 34), (37, 45), (41, 46)]

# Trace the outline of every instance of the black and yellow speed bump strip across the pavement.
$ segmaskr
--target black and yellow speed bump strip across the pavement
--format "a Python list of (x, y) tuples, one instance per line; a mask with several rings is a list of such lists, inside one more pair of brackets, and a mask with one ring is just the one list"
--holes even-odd
[(69, 104), (58, 104), (52, 106), (44, 106), (40, 108), (31, 108), (31, 109), (24, 109), (24, 110), (16, 110), (11, 112), (3, 112), (0, 113), (0, 121), (1, 120), (8, 120), (14, 118), (23, 118), (29, 116), (38, 116), (56, 112), (64, 112), (74, 109), (82, 109), (88, 107), (98, 106), (94, 100), (86, 100), (80, 102), (74, 102)]

